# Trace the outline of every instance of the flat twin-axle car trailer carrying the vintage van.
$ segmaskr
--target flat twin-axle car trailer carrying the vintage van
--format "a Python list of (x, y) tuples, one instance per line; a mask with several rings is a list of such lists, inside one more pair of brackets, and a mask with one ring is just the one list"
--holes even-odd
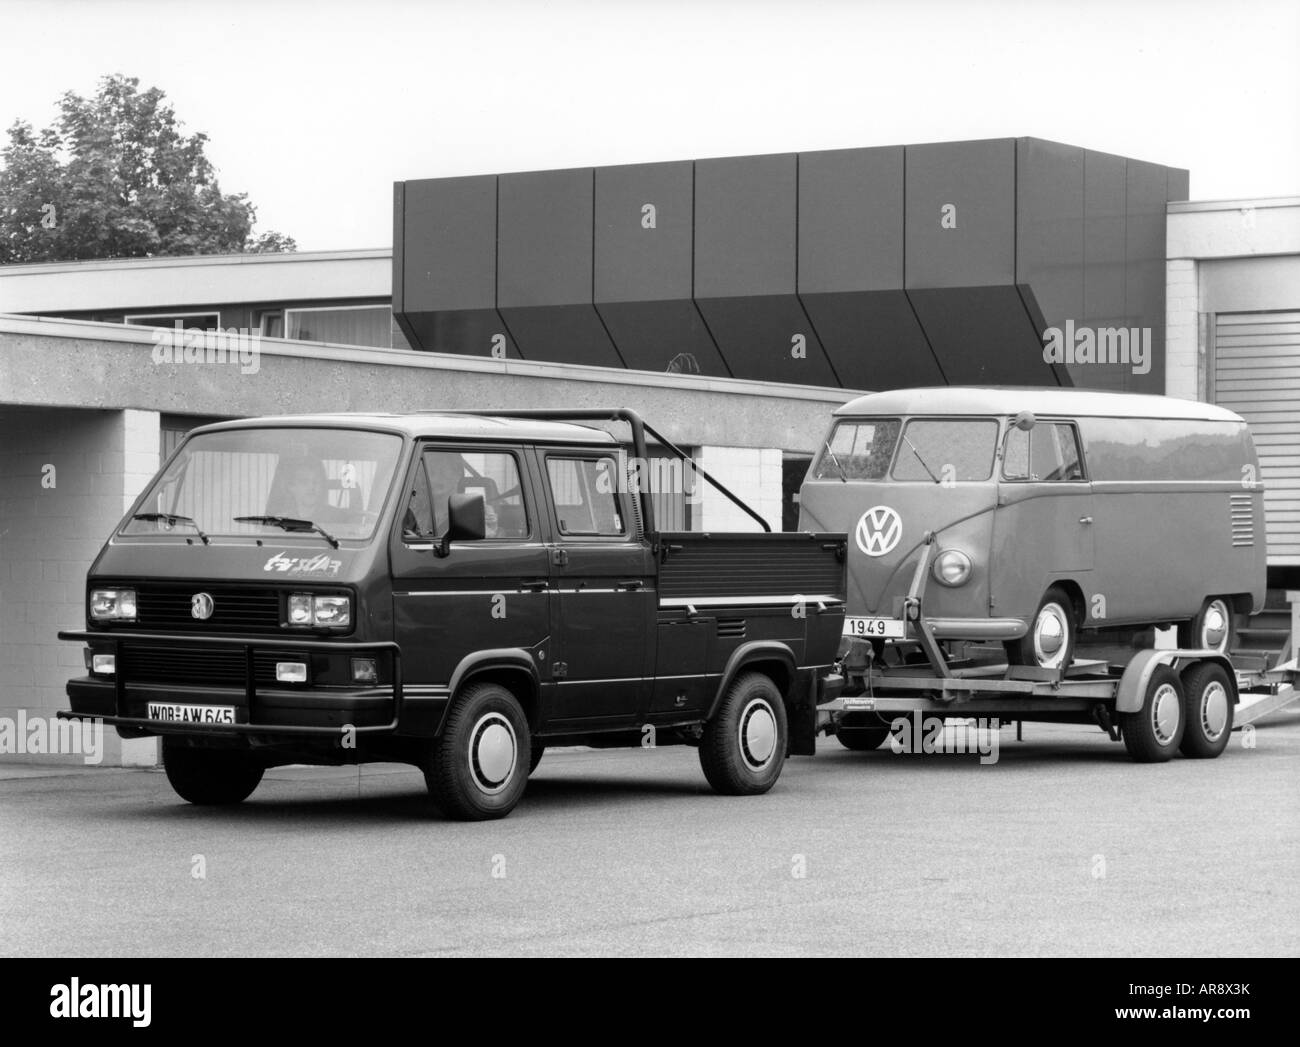
[[(1300, 698), (1300, 593), (1292, 597), (1292, 628), (1277, 665), (1236, 671), (1218, 650), (1144, 648), (1124, 663), (1080, 658), (1065, 669), (1008, 665), (993, 652), (949, 658), (924, 614), (924, 588), (935, 551), (928, 533), (904, 600), (910, 633), (894, 641), (901, 663), (885, 663), (881, 641), (858, 645), (841, 669), (845, 693), (819, 706), (822, 728), (849, 749), (874, 749), (898, 717), (988, 718), (1096, 723), (1112, 740), (1123, 740), (1139, 762), (1162, 762), (1175, 752), (1213, 758), (1227, 747), (1234, 728)], [(993, 656), (982, 658), (980, 654)], [(1286, 656), (1290, 656), (1288, 658)]]

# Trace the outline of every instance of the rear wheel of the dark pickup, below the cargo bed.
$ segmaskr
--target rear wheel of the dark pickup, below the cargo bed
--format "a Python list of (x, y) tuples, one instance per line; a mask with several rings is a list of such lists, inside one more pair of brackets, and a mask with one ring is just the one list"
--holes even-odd
[(705, 724), (699, 766), (716, 792), (754, 796), (767, 792), (781, 776), (785, 748), (781, 692), (762, 672), (745, 672)]

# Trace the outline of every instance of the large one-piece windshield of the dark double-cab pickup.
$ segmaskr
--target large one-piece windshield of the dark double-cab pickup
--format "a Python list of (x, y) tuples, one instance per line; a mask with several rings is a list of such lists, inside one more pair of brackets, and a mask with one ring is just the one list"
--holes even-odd
[(121, 533), (260, 536), (311, 523), (338, 538), (369, 538), (400, 453), (400, 437), (358, 429), (200, 433), (153, 480)]

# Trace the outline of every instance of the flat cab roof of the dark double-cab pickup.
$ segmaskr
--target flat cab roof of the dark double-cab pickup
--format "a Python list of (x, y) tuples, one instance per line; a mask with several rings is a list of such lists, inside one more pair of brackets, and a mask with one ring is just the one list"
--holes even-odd
[[(611, 412), (612, 414), (612, 412)], [(312, 414), (246, 417), (202, 427), (203, 432), (257, 429), (268, 427), (389, 429), (408, 437), (445, 440), (498, 440), (523, 444), (615, 444), (615, 438), (592, 425), (569, 421), (542, 421), (503, 415), (469, 415), (455, 411), (413, 411), (410, 414)]]

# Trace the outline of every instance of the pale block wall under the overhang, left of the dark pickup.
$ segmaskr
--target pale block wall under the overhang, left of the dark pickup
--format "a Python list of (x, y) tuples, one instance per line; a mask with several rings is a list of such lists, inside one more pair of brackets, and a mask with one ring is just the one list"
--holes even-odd
[[(53, 723), (82, 648), (57, 639), (84, 623), (86, 570), (159, 467), (155, 411), (0, 408), (0, 722)], [(48, 728), (47, 728), (48, 731)], [(53, 737), (53, 735), (48, 735)], [(30, 730), (25, 739), (30, 739)], [(103, 734), (104, 765), (152, 763), (156, 741)], [(84, 762), (82, 753), (0, 752), (0, 760)]]

